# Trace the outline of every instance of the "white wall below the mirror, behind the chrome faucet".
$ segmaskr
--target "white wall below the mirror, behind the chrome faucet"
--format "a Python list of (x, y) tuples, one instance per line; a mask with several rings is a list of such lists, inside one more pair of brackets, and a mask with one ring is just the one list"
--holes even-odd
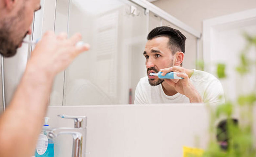
[[(204, 104), (49, 107), (51, 127), (74, 127), (58, 114), (88, 117), (86, 157), (180, 157), (183, 146), (206, 148), (209, 139)], [(69, 157), (71, 137), (56, 142), (55, 156)]]

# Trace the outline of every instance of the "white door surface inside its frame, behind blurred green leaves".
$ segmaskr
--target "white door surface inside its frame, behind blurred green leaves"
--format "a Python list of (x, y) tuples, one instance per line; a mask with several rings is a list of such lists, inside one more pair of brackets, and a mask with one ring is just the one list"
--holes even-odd
[[(240, 62), (238, 56), (246, 44), (246, 40), (242, 36), (244, 31), (251, 35), (256, 35), (256, 25), (220, 31), (217, 38), (218, 42), (215, 44), (216, 54), (212, 60), (227, 64), (227, 80), (221, 81), (227, 99), (234, 101), (240, 94), (250, 94), (255, 88), (255, 66), (250, 69), (250, 74), (247, 74), (244, 79), (241, 79), (240, 75), (235, 71), (235, 67)], [(247, 55), (249, 58), (255, 59), (255, 49), (250, 49)]]

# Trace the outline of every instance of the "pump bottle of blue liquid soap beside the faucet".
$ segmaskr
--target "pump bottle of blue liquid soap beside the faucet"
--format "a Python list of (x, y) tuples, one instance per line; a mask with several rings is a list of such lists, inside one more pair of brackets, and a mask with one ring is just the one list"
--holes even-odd
[(49, 117), (45, 117), (44, 126), (40, 133), (35, 150), (35, 157), (54, 157), (54, 143), (52, 139), (47, 137), (45, 129), (49, 128)]

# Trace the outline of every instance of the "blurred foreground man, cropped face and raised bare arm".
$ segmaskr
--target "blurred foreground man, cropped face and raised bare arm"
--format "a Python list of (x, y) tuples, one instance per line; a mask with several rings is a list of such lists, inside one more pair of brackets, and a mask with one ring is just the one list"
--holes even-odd
[[(11, 57), (31, 34), (34, 11), (40, 0), (0, 0), (0, 53)], [(47, 32), (36, 45), (24, 75), (5, 113), (0, 117), (0, 156), (29, 157), (35, 150), (55, 75), (89, 49), (76, 47), (80, 34), (67, 39)]]

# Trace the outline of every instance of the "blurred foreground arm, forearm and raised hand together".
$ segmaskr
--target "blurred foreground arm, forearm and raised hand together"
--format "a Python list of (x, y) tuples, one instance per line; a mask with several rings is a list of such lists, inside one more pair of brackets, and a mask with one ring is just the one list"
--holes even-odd
[[(0, 118), (0, 156), (32, 156), (55, 75), (78, 54), (89, 49), (88, 44), (76, 47), (80, 40), (80, 34), (67, 39), (66, 33), (56, 36), (47, 32), (38, 42), (20, 84)], [(24, 125), (24, 121), (28, 125)]]

